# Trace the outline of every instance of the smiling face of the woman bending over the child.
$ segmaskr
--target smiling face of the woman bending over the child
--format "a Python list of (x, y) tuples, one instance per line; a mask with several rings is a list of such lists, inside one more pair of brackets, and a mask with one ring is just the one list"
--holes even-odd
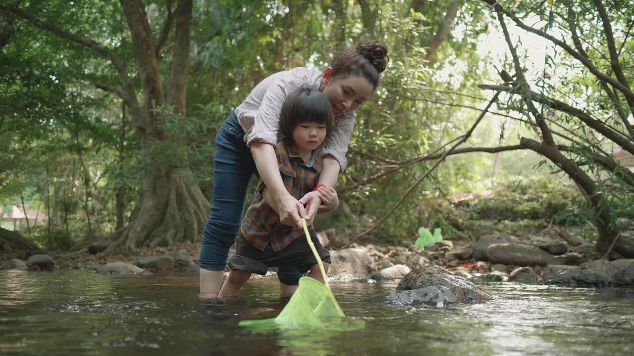
[(332, 77), (332, 68), (323, 72), (323, 94), (332, 103), (335, 116), (356, 110), (370, 98), (374, 87), (363, 77), (356, 75)]

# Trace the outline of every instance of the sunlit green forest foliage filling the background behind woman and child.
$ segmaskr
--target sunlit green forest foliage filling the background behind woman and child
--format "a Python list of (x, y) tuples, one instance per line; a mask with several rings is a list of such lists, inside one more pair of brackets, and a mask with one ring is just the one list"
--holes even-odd
[[(634, 175), (610, 159), (619, 146), (634, 153), (633, 18), (627, 1), (599, 0), (3, 0), (0, 205), (41, 207), (50, 223), (23, 232), (47, 248), (126, 229), (130, 246), (194, 241), (200, 222), (188, 223), (184, 209), (170, 215), (168, 203), (157, 213), (161, 229), (130, 237), (143, 225), (148, 177), (158, 184), (157, 172), (167, 181), (179, 172), (196, 202), (189, 207), (204, 207), (188, 187), (208, 204), (217, 129), (259, 81), (323, 69), (333, 53), (376, 39), (389, 47), (389, 67), (358, 111), (337, 186), (346, 206), (325, 224), (354, 235), (381, 221), (370, 232), (379, 241), (410, 239), (434, 223), (465, 237), (449, 208), (443, 216), (425, 202), (541, 175), (548, 183), (522, 185), (520, 196), (545, 194), (547, 184), (564, 192), (545, 197), (552, 205), (517, 204), (517, 188), (475, 215), (599, 221), (605, 248), (618, 234), (614, 222), (633, 215)], [(150, 35), (151, 56), (139, 53), (138, 29)], [(179, 108), (169, 93), (184, 53)], [(155, 68), (139, 60), (150, 57)], [(163, 94), (152, 94), (147, 68)], [(496, 92), (467, 142), (428, 172)], [(150, 94), (162, 105), (145, 113), (129, 105), (134, 96), (145, 108)], [(139, 115), (162, 134), (148, 134)]]

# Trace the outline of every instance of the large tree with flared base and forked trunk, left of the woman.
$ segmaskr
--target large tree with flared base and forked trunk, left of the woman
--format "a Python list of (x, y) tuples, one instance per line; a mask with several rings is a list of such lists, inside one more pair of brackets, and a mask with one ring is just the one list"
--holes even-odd
[[(165, 14), (162, 26), (148, 21), (147, 9), (159, 6), (165, 6), (164, 11), (155, 11)], [(95, 51), (114, 68), (116, 77), (111, 78), (110, 83), (93, 84), (124, 101), (141, 142), (139, 155), (148, 160), (151, 168), (143, 177), (141, 194), (131, 220), (117, 232), (116, 243), (110, 246), (110, 250), (122, 244), (133, 249), (144, 243), (169, 245), (176, 241), (193, 241), (202, 231), (210, 205), (191, 179), (186, 150), (180, 149), (182, 137), (166, 130), (163, 115), (165, 111), (187, 115), (191, 0), (179, 0), (178, 3), (159, 1), (148, 6), (140, 0), (121, 0), (120, 8), (126, 19), (128, 35), (119, 43), (105, 43), (64, 29), (55, 23), (54, 18), (44, 20), (28, 7), (23, 9), (17, 4), (0, 4), (0, 10), (16, 18)], [(155, 15), (157, 17), (160, 16)], [(111, 20), (107, 25), (114, 23), (115, 20)], [(134, 69), (120, 54), (126, 50), (134, 51)], [(171, 57), (169, 69), (162, 70), (160, 62), (168, 57)]]

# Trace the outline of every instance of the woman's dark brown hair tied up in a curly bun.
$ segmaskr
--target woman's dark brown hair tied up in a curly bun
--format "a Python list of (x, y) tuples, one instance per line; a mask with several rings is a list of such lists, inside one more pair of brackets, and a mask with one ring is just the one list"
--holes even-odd
[(387, 46), (377, 41), (359, 42), (356, 48), (349, 48), (332, 58), (332, 76), (358, 75), (377, 89), (381, 72), (385, 70), (389, 57)]

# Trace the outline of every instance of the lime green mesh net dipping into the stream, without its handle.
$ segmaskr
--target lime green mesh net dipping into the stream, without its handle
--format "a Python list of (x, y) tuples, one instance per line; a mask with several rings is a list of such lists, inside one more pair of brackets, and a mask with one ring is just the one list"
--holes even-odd
[(311, 277), (301, 277), (299, 288), (280, 315), (273, 319), (243, 320), (238, 325), (256, 329), (304, 326), (356, 330), (365, 327), (365, 321), (346, 318), (330, 288)]

